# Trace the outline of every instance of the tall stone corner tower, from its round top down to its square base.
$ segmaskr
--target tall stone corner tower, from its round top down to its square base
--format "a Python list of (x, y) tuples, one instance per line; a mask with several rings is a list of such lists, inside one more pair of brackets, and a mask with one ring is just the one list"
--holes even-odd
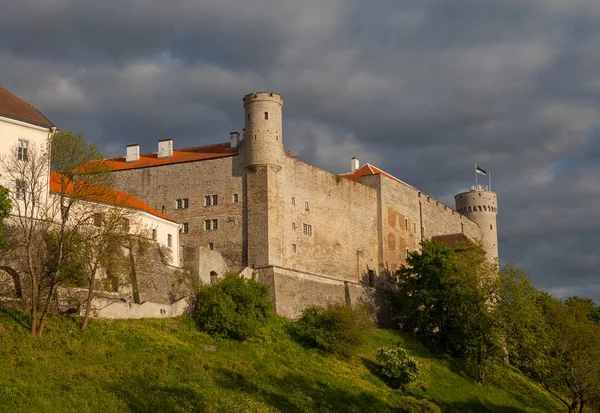
[(283, 240), (283, 97), (277, 93), (244, 96), (244, 167), (248, 266), (280, 265)]

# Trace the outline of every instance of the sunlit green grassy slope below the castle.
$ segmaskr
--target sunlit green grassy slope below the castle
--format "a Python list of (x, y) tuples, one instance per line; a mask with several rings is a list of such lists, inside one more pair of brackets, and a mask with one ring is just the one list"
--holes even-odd
[[(189, 318), (51, 317), (30, 337), (27, 315), (0, 309), (0, 412), (555, 412), (564, 408), (509, 368), (478, 386), (451, 359), (377, 330), (351, 360), (294, 342), (276, 319), (245, 343), (214, 339)], [(401, 343), (423, 365), (407, 392), (377, 373), (375, 351)], [(216, 345), (217, 351), (207, 350)]]

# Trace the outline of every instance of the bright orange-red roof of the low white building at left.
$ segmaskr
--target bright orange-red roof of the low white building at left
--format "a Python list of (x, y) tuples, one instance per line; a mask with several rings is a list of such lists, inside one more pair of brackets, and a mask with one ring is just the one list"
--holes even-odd
[[(50, 172), (50, 192), (60, 194), (63, 191), (63, 186), (66, 186), (64, 192), (66, 193), (66, 195), (72, 195), (75, 191), (75, 186), (78, 183), (74, 184), (71, 181), (65, 180), (68, 180), (68, 178), (64, 175), (56, 172)], [(64, 185), (65, 183), (66, 185)], [(165, 214), (157, 211), (151, 206), (140, 201), (133, 195), (127, 194), (125, 192), (116, 191), (114, 189), (109, 189), (89, 183), (86, 184), (86, 188), (84, 191), (79, 192), (80, 194), (82, 194), (82, 198), (85, 198), (88, 201), (137, 209), (139, 211), (147, 212), (148, 214), (152, 214), (159, 218), (166, 219), (167, 221), (177, 222), (173, 218), (166, 216)]]

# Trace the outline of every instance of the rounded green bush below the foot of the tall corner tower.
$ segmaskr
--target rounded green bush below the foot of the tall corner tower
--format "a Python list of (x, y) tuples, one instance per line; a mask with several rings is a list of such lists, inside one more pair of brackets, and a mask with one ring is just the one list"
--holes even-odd
[(226, 274), (216, 284), (202, 285), (198, 289), (192, 317), (202, 331), (244, 341), (272, 314), (266, 285)]

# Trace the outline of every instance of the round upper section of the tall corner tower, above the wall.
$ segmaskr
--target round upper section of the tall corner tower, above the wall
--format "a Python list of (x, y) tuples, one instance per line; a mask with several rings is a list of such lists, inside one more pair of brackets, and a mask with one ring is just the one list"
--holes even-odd
[(281, 134), (283, 96), (258, 92), (244, 96), (245, 166), (280, 170), (285, 153)]

